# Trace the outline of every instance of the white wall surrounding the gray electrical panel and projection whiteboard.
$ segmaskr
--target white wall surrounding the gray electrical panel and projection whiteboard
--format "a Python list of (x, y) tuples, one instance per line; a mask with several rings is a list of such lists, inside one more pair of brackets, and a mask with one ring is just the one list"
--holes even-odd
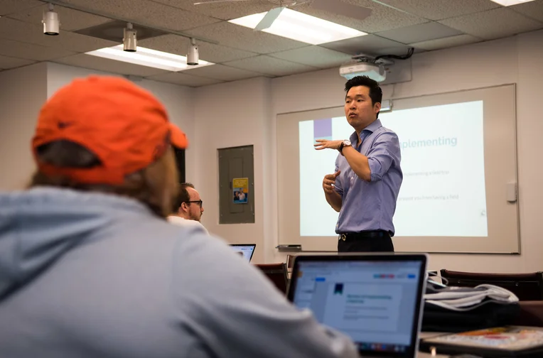
[[(520, 231), (522, 254), (431, 255), (431, 268), (460, 271), (527, 272), (543, 270), (543, 153), (542, 111), (543, 31), (458, 48), (416, 54), (412, 58), (412, 81), (384, 86), (385, 97), (414, 97), (517, 83), (517, 140), (520, 191)], [(343, 104), (345, 81), (337, 69), (311, 72), (254, 83), (233, 82), (198, 89), (196, 94), (196, 133), (205, 163), (198, 170), (200, 191), (217, 197), (216, 148), (255, 144), (255, 188), (257, 223), (247, 230), (237, 225), (218, 226), (218, 205), (206, 207), (206, 226), (230, 242), (251, 238), (264, 247), (264, 261), (282, 261), (274, 246), (277, 237), (276, 114), (298, 112)], [(271, 97), (269, 95), (271, 94)], [(271, 109), (271, 114), (267, 108)], [(213, 117), (213, 118), (211, 118)], [(244, 140), (232, 138), (232, 128), (247, 129)], [(205, 143), (203, 143), (205, 141)], [(258, 153), (258, 156), (257, 156)], [(262, 163), (260, 156), (263, 156)], [(263, 165), (262, 165), (263, 164)], [(205, 173), (205, 174), (204, 174)], [(264, 188), (264, 193), (262, 192)], [(216, 206), (216, 207), (215, 207)], [(264, 231), (264, 232), (262, 232)], [(295, 242), (293, 242), (294, 244)]]

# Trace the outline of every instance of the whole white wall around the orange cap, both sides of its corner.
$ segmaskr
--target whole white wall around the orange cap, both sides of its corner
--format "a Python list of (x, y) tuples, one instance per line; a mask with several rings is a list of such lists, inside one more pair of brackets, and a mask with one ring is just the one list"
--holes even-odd
[[(112, 75), (57, 63), (38, 63), (0, 72), (0, 190), (23, 188), (35, 169), (31, 138), (39, 110), (55, 91), (76, 77)], [(190, 87), (141, 80), (136, 85), (163, 102), (171, 121), (186, 132), (190, 144), (195, 137), (194, 91)], [(195, 149), (186, 151), (187, 180), (195, 177)]]

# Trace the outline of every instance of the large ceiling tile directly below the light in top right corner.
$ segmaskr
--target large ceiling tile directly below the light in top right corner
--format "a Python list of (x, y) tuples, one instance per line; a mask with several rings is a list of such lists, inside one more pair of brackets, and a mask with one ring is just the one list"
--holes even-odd
[(543, 28), (543, 23), (522, 16), (520, 13), (506, 7), (456, 18), (447, 18), (439, 22), (485, 40), (503, 38)]

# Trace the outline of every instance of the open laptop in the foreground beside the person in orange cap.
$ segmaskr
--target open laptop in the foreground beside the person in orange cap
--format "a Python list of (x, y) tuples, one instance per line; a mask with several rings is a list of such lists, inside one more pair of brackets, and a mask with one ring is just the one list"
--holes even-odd
[(349, 335), (364, 357), (414, 358), (425, 254), (296, 256), (289, 300)]

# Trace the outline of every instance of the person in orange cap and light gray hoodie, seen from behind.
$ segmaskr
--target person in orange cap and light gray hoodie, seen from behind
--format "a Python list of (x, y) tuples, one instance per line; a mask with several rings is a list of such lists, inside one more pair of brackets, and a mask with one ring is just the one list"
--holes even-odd
[(0, 193), (0, 357), (357, 357), (220, 239), (168, 224), (172, 145), (166, 109), (122, 78), (45, 103), (30, 188)]

